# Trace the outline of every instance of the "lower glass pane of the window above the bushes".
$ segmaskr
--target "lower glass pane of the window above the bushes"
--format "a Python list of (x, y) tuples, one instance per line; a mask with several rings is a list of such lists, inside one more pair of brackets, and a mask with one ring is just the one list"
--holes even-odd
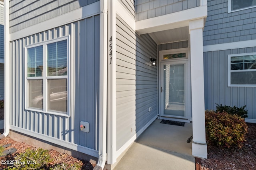
[(256, 85), (256, 71), (248, 72), (231, 72), (230, 73), (231, 84), (248, 84)]

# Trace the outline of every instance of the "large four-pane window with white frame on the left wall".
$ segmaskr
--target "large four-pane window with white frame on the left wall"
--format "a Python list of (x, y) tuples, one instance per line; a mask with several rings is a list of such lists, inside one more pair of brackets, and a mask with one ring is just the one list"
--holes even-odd
[(68, 115), (69, 38), (26, 46), (26, 109)]

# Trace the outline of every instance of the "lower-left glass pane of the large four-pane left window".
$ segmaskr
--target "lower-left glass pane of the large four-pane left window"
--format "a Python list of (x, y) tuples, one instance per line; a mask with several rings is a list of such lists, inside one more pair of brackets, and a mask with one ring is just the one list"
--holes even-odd
[(28, 80), (28, 107), (43, 109), (43, 80)]

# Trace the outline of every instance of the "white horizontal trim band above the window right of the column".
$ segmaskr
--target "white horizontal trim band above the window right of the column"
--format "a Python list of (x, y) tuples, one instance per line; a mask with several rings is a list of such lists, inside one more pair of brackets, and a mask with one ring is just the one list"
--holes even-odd
[(208, 51), (220, 51), (220, 50), (228, 50), (228, 49), (240, 49), (246, 47), (256, 47), (256, 39), (248, 40), (248, 41), (238, 41), (232, 43), (222, 43), (222, 44), (214, 44), (214, 45), (205, 45), (204, 52)]

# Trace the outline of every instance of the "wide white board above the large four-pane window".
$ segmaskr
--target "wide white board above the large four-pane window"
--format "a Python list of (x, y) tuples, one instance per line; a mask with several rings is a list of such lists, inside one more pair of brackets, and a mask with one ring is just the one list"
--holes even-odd
[(10, 33), (10, 41), (100, 14), (100, 1)]

